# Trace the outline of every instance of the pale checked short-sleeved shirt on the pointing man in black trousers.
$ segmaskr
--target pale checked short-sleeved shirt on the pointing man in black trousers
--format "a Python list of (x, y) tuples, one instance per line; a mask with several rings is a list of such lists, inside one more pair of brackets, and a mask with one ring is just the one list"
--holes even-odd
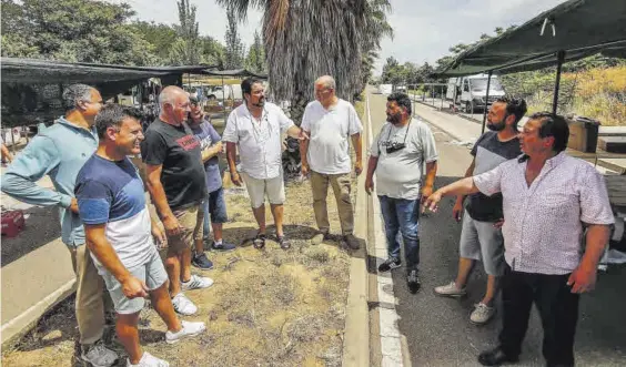
[(606, 182), (592, 165), (564, 152), (546, 161), (531, 186), (526, 165), (515, 159), (474, 176), (483, 194), (502, 192), (506, 263), (516, 272), (572, 273), (580, 262), (583, 223), (615, 222)]

